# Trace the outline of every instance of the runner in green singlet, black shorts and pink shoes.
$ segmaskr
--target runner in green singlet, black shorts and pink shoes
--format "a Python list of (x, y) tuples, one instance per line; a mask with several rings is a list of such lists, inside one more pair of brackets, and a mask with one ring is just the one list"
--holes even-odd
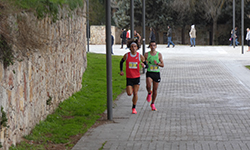
[[(147, 52), (144, 55), (146, 62), (148, 64), (148, 69), (146, 73), (146, 88), (148, 91), (148, 95), (147, 95), (146, 100), (150, 102), (152, 99), (150, 106), (151, 106), (152, 111), (156, 111), (157, 109), (155, 108), (155, 99), (157, 96), (158, 85), (161, 81), (159, 67), (164, 67), (164, 63), (163, 63), (162, 54), (156, 51), (156, 48), (157, 48), (156, 42), (151, 41), (149, 45), (150, 45), (151, 51)], [(153, 83), (153, 91), (151, 90), (152, 83)]]

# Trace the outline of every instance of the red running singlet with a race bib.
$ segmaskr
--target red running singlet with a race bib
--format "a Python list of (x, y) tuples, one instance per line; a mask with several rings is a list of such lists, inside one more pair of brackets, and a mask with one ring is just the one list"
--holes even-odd
[(140, 53), (136, 52), (135, 56), (131, 56), (128, 53), (128, 58), (126, 60), (126, 77), (127, 78), (139, 78), (140, 77)]

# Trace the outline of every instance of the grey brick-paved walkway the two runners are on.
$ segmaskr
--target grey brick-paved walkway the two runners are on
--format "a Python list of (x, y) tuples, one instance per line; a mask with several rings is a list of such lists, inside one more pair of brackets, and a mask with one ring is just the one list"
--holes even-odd
[[(119, 47), (116, 55), (128, 52)], [(132, 98), (122, 94), (114, 104), (114, 123), (89, 130), (73, 150), (250, 150), (250, 71), (244, 67), (250, 52), (241, 54), (239, 46), (157, 50), (165, 63), (158, 110), (146, 101), (142, 75), (138, 114), (131, 114)], [(90, 51), (105, 53), (105, 46), (91, 45)]]

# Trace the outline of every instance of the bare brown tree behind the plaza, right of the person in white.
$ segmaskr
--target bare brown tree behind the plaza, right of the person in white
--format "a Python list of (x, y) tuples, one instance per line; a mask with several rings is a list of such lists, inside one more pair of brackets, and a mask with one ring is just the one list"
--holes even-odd
[(205, 12), (205, 19), (213, 21), (213, 41), (212, 44), (217, 42), (217, 21), (221, 14), (221, 10), (226, 0), (200, 0), (199, 8)]

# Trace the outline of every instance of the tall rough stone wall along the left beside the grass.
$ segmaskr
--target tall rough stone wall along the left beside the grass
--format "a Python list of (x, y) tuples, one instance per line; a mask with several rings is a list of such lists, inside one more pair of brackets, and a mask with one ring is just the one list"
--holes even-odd
[[(0, 127), (3, 145), (0, 149), (20, 142), (21, 137), (29, 134), (60, 102), (81, 89), (87, 67), (86, 20), (80, 14), (83, 10), (72, 12), (70, 17), (66, 12), (62, 10), (62, 19), (55, 23), (49, 18), (37, 20), (32, 14), (21, 14), (21, 19), (26, 19), (31, 27), (29, 30), (45, 36), (38, 39), (43, 46), (16, 56), (13, 65), (4, 68), (0, 63), (0, 106), (7, 113), (9, 126)], [(18, 19), (20, 16), (9, 17), (9, 26), (16, 28)], [(13, 32), (14, 41), (18, 36), (19, 32)], [(15, 45), (13, 48), (18, 51)]]

